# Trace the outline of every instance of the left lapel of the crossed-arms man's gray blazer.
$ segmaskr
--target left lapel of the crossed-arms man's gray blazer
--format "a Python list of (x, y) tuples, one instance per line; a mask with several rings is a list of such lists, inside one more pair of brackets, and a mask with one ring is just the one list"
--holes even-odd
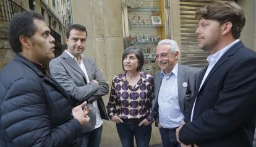
[[(79, 65), (77, 64), (77, 62), (72, 59), (72, 57), (69, 56), (69, 54), (67, 54), (66, 51), (64, 51), (62, 54), (61, 54), (61, 57), (62, 59), (70, 65), (70, 67), (74, 70), (76, 70), (77, 72), (79, 72), (81, 75), (83, 75), (83, 77), (86, 79), (85, 77), (85, 73), (83, 73), (82, 69), (79, 67)], [(87, 68), (87, 67), (85, 67)]]

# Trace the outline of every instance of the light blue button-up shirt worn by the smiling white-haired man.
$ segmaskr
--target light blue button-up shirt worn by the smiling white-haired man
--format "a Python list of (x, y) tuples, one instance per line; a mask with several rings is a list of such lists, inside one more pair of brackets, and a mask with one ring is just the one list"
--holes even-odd
[(158, 94), (158, 113), (159, 122), (163, 128), (179, 127), (181, 121), (184, 120), (179, 107), (177, 69), (178, 64), (169, 75), (166, 75), (163, 70), (160, 73), (162, 82)]

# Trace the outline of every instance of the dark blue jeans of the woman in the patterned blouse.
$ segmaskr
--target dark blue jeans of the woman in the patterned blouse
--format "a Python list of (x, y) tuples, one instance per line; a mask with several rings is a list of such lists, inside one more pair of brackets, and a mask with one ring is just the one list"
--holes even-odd
[(138, 147), (148, 147), (151, 138), (151, 124), (142, 125), (139, 123), (129, 124), (123, 122), (116, 124), (117, 132), (122, 143), (122, 147), (133, 147), (134, 136)]

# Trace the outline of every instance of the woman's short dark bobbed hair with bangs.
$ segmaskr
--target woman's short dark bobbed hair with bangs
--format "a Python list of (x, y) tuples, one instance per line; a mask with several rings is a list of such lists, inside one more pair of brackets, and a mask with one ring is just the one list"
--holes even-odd
[[(144, 55), (142, 52), (142, 48), (139, 48), (137, 46), (129, 46), (124, 50), (124, 54), (122, 54), (122, 62), (124, 62), (124, 57), (126, 57), (129, 54), (135, 54), (139, 61), (139, 67), (137, 68), (138, 71), (142, 70), (143, 64), (144, 64)], [(124, 64), (122, 64), (122, 69), (124, 70)]]

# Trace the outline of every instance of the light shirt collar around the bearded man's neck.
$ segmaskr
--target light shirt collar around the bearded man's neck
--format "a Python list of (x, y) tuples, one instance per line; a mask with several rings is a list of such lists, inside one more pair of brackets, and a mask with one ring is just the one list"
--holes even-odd
[(210, 56), (207, 57), (207, 61), (210, 63), (213, 62), (217, 62), (221, 56), (223, 56), (223, 54), (228, 51), (228, 49), (230, 49), (234, 44), (236, 44), (237, 42), (239, 42), (240, 40), (237, 39), (235, 41), (233, 41), (232, 43), (228, 44), (228, 46), (226, 46), (225, 48), (221, 49), (220, 51), (216, 52), (215, 54), (211, 54)]

